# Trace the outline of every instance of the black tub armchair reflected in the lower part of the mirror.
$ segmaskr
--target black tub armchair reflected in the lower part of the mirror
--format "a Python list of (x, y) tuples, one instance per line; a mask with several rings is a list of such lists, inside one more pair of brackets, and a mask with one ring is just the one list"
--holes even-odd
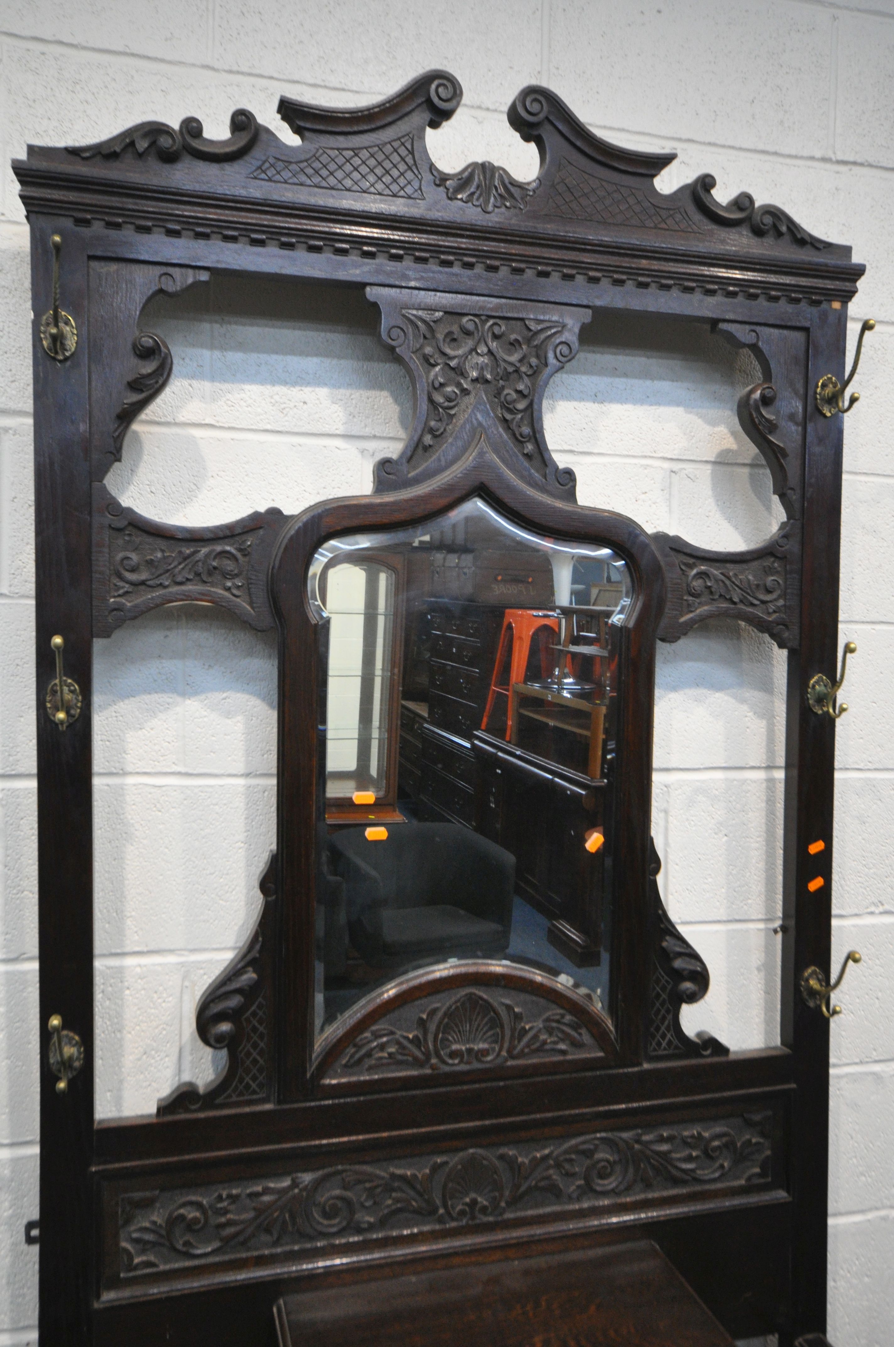
[(512, 933), (516, 859), (455, 823), (400, 823), (330, 838), (345, 881), (350, 942), (373, 967), (502, 954)]

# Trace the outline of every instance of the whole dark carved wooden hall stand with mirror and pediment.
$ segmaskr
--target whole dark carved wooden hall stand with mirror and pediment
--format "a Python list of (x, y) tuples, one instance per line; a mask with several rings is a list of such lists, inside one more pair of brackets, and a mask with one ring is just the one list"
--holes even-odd
[[(672, 154), (607, 144), (547, 89), (509, 108), (537, 179), (443, 174), (425, 128), (460, 97), (431, 71), (358, 110), (283, 98), (299, 148), (238, 110), (224, 141), (143, 123), (15, 164), (44, 1344), (420, 1342), (423, 1321), (428, 1343), (825, 1342), (836, 396), (863, 268), (707, 174), (658, 193)], [(186, 528), (106, 489), (171, 373), (143, 308), (213, 271), (366, 287), (416, 397), (370, 497)], [(544, 388), (610, 311), (753, 353), (739, 422), (785, 511), (761, 547), (576, 504)], [(226, 1068), (97, 1122), (92, 641), (172, 601), (279, 632), (279, 841), (198, 1010)], [(656, 640), (716, 614), (789, 652), (782, 1047), (743, 1053), (681, 1029), (708, 971), (649, 836)]]

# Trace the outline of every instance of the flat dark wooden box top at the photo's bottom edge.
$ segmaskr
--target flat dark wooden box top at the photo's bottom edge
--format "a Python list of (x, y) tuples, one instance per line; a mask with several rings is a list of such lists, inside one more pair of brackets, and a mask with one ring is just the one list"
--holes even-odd
[(649, 1242), (285, 1296), (276, 1328), (280, 1347), (732, 1347)]

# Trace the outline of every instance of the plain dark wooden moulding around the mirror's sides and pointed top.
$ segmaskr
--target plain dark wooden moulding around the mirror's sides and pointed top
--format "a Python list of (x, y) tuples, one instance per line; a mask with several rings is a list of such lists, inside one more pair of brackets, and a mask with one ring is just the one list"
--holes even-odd
[[(319, 773), (314, 714), (319, 695), (319, 661), (303, 583), (314, 552), (327, 537), (354, 533), (361, 528), (381, 531), (397, 524), (421, 523), (470, 496), (482, 494), (518, 523), (547, 536), (613, 547), (630, 566), (635, 601), (626, 625), (619, 629), (621, 683), (626, 691), (618, 715), (625, 770), (618, 779), (617, 810), (621, 818), (649, 818), (654, 638), (664, 602), (658, 558), (648, 535), (622, 515), (553, 500), (514, 477), (504, 466), (500, 450), (494, 451), (485, 438), (493, 419), (489, 408), (481, 404), (473, 407), (455, 436), (466, 432), (471, 440), (467, 453), (452, 471), (434, 478), (428, 486), (382, 493), (372, 500), (329, 501), (311, 508), (285, 529), (271, 577), (272, 602), (281, 633), (280, 801), (312, 799)], [(473, 428), (466, 430), (470, 423)], [(443, 450), (444, 457), (452, 458), (451, 451), (452, 443)], [(284, 1100), (304, 1092), (311, 1072), (314, 909), (310, 898), (315, 892), (315, 827), (310, 810), (295, 820), (294, 811), (280, 804), (283, 1041), (294, 1045), (287, 1060), (280, 1063), (280, 1098)], [(621, 878), (614, 950), (621, 971), (613, 979), (611, 1017), (618, 1025), (621, 1059), (626, 1063), (642, 1060), (644, 1051), (649, 950), (644, 940), (637, 939), (637, 932), (646, 931), (649, 924), (648, 863), (649, 838), (642, 823), (640, 827), (619, 828), (617, 869)], [(306, 1045), (303, 1061), (299, 1045)]]

